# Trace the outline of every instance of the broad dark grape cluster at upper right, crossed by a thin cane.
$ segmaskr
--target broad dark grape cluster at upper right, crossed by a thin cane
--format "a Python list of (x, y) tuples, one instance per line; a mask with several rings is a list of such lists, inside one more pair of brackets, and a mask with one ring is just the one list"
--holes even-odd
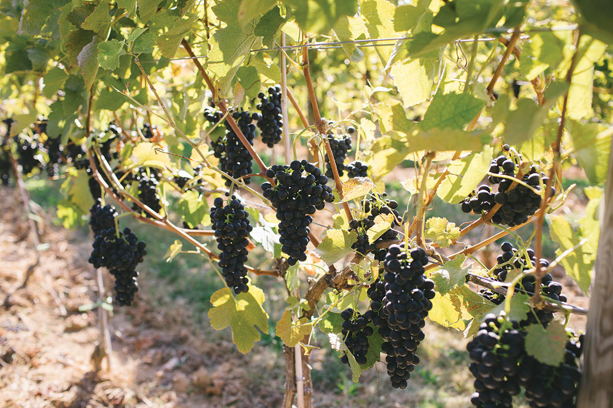
[[(504, 145), (504, 150), (508, 149), (508, 145)], [(493, 159), (490, 165), (490, 172), (509, 177), (517, 175), (516, 169), (516, 164), (505, 155)], [(500, 210), (493, 215), (492, 222), (512, 227), (526, 223), (528, 217), (541, 206), (541, 196), (525, 185), (518, 184), (510, 190), (511, 179), (489, 176), (488, 180), (492, 184), (498, 184), (498, 192), (494, 193), (488, 185), (481, 185), (476, 194), (471, 194), (462, 202), (463, 212), (481, 213), (481, 211), (489, 211), (495, 204), (501, 204)], [(541, 182), (546, 185), (548, 181), (549, 177), (539, 171), (536, 166), (531, 166), (528, 174), (522, 177), (522, 182), (535, 190), (541, 190)], [(550, 187), (549, 196), (554, 195), (555, 188)]]

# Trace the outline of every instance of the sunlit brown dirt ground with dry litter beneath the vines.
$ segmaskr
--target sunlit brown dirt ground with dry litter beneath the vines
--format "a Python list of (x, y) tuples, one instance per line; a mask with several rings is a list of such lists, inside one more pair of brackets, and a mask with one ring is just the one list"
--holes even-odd
[[(168, 284), (154, 276), (143, 281), (135, 306), (115, 310), (111, 317), (109, 367), (98, 345), (96, 276), (87, 263), (90, 237), (53, 226), (53, 217), (43, 214), (40, 264), (20, 287), (36, 262), (36, 249), (17, 191), (0, 187), (0, 207), (1, 407), (280, 406), (284, 360), (279, 347), (262, 342), (248, 355), (240, 354), (229, 330), (215, 332), (206, 318), (198, 322), (188, 302), (148, 290)], [(558, 280), (572, 303), (587, 306), (569, 278)], [(573, 327), (584, 325), (585, 319), (574, 318)], [(329, 351), (315, 351), (314, 406), (469, 406), (467, 341), (432, 322), (426, 330), (422, 363), (403, 391), (392, 390), (381, 363), (356, 385)]]

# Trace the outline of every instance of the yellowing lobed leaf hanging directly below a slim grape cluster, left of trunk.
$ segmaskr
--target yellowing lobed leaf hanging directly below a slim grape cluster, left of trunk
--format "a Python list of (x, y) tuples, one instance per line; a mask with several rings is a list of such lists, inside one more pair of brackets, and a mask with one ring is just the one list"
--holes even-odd
[[(211, 295), (213, 308), (208, 311), (211, 327), (232, 328), (232, 341), (243, 354), (248, 353), (260, 339), (257, 328), (268, 333), (268, 314), (262, 308), (264, 292), (249, 285), (249, 292), (233, 295), (224, 287)], [(257, 327), (257, 328), (256, 328)]]

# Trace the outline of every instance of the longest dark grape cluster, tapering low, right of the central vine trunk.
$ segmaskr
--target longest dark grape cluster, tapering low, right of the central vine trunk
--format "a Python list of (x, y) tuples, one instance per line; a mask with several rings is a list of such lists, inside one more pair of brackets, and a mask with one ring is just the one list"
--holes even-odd
[(387, 374), (392, 387), (405, 388), (419, 357), (417, 346), (424, 340), (421, 330), (432, 309), (434, 282), (425, 278), (428, 257), (421, 248), (390, 245), (383, 262), (383, 280), (368, 289), (373, 324), (386, 339), (381, 346), (387, 354)]

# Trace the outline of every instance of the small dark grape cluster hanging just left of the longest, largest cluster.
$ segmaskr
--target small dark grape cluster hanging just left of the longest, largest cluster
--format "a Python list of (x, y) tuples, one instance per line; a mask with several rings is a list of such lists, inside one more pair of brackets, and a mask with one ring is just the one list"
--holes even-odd
[[(368, 325), (373, 320), (375, 314), (369, 310), (364, 314), (352, 308), (346, 308), (341, 312), (343, 323), (341, 324), (341, 334), (345, 345), (356, 358), (356, 362), (360, 365), (366, 364), (366, 355), (368, 354), (368, 336), (373, 335), (373, 328)], [(343, 355), (341, 357), (343, 364), (349, 364), (349, 357)]]

